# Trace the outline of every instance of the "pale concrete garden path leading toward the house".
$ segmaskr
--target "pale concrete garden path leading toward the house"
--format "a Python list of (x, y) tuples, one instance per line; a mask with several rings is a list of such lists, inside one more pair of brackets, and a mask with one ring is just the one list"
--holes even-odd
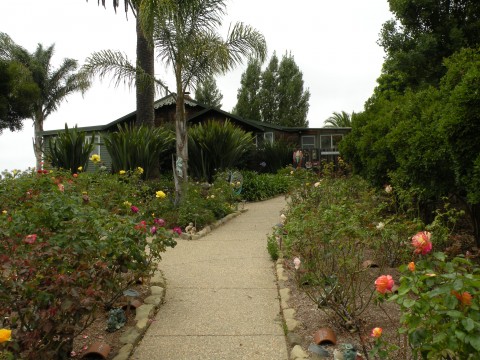
[(247, 204), (247, 212), (199, 240), (179, 240), (163, 256), (165, 303), (134, 360), (287, 360), (288, 351), (267, 234), (283, 197)]

